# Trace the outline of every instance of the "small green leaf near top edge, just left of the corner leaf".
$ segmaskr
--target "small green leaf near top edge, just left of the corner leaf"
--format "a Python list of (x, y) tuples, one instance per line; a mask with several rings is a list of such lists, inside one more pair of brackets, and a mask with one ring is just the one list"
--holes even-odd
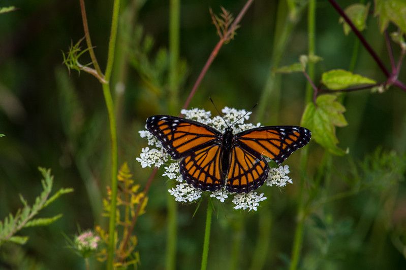
[[(353, 4), (345, 10), (345, 13), (347, 14), (347, 16), (353, 22), (355, 27), (360, 31), (362, 31), (366, 28), (365, 22), (366, 22), (366, 18), (368, 17), (369, 6), (370, 6), (369, 3), (367, 5)], [(342, 17), (340, 17), (338, 21), (340, 23), (342, 23), (344, 33), (346, 35), (349, 34), (351, 32), (350, 25), (348, 25), (348, 23)]]

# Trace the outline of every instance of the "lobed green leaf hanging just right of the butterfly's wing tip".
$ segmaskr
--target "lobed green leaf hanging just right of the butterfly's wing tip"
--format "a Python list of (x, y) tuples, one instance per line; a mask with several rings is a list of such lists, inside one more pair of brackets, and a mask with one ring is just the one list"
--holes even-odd
[(316, 105), (309, 102), (304, 110), (301, 125), (312, 132), (317, 143), (334, 155), (345, 155), (346, 151), (337, 146), (338, 139), (335, 127), (347, 126), (347, 121), (342, 114), (346, 108), (336, 101), (335, 95), (321, 95), (316, 100)]

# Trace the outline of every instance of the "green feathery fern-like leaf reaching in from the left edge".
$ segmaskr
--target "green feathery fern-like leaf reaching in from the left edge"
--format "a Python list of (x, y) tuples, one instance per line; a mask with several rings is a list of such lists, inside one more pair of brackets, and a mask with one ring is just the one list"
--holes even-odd
[(15, 215), (11, 213), (0, 221), (0, 246), (5, 242), (14, 242), (23, 245), (27, 242), (28, 237), (16, 236), (20, 229), (26, 227), (46, 226), (59, 219), (62, 214), (47, 218), (34, 218), (42, 209), (47, 207), (61, 195), (73, 191), (73, 188), (61, 188), (54, 195), (51, 195), (53, 176), (50, 169), (39, 168), (42, 173), (43, 191), (40, 196), (35, 199), (34, 205), (29, 206), (27, 201), (20, 195), (20, 200), (24, 205), (23, 208), (17, 210)]

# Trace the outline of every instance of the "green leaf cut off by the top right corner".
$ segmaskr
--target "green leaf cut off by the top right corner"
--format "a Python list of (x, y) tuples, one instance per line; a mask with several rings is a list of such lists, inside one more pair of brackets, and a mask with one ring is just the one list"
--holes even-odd
[(396, 24), (402, 32), (406, 32), (406, 1), (375, 0), (375, 13), (379, 16), (381, 32), (388, 27), (389, 21)]

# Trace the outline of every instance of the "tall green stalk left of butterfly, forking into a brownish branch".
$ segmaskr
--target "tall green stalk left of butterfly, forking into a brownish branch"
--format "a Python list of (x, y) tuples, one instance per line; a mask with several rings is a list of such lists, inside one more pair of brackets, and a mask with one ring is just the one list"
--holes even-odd
[(103, 95), (106, 101), (107, 111), (110, 122), (110, 140), (111, 140), (111, 208), (109, 220), (109, 245), (107, 248), (107, 269), (113, 269), (114, 249), (115, 249), (115, 227), (116, 227), (116, 205), (117, 205), (117, 130), (116, 119), (113, 105), (113, 99), (110, 91), (110, 77), (114, 63), (114, 49), (117, 38), (118, 15), (120, 11), (120, 0), (114, 0), (113, 16), (111, 21), (111, 31), (109, 40), (109, 49), (105, 71), (105, 80), (103, 84)]

